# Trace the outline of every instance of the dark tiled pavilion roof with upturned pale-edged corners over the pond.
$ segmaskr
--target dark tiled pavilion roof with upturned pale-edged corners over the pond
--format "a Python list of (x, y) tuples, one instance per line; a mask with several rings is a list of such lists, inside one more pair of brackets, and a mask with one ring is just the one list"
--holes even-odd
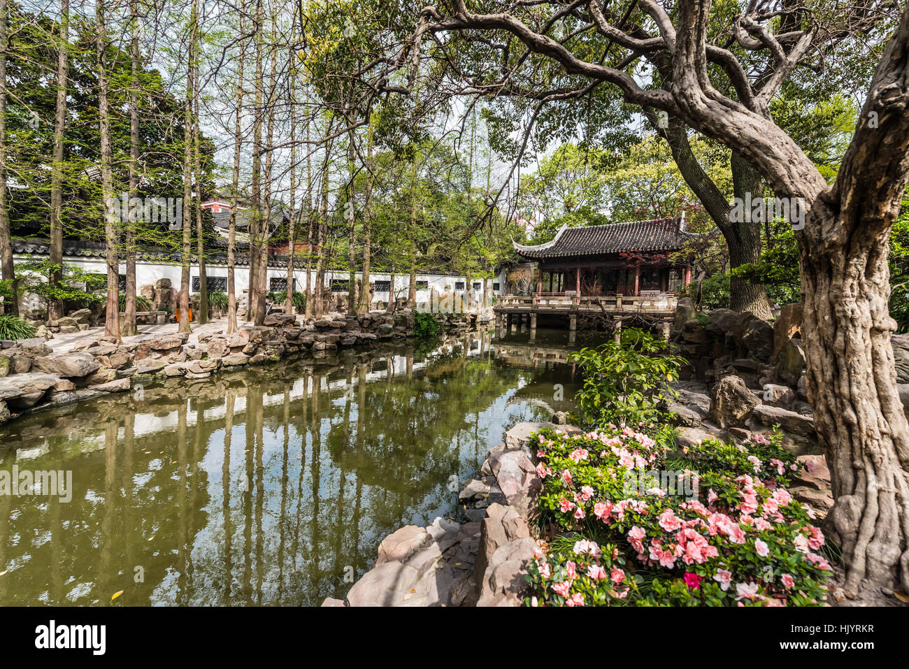
[(527, 246), (512, 242), (514, 250), (530, 260), (574, 257), (578, 255), (609, 255), (623, 251), (677, 251), (684, 242), (698, 235), (684, 232), (684, 216), (656, 218), (651, 221), (631, 221), (606, 225), (559, 228), (551, 242)]

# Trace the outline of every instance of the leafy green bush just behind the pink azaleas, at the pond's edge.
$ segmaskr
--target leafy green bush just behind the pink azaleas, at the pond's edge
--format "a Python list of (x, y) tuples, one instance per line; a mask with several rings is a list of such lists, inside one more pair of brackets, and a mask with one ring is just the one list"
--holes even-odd
[(658, 423), (659, 405), (674, 399), (669, 384), (678, 380), (686, 362), (664, 354), (667, 345), (664, 339), (628, 327), (619, 344), (607, 342), (569, 354), (569, 362), (580, 364), (584, 374), (584, 385), (575, 395), (584, 421), (597, 427)]

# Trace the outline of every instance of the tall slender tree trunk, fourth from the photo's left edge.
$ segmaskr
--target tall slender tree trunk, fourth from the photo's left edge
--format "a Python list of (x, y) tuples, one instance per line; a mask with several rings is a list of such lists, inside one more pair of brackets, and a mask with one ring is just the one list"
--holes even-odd
[(124, 320), (120, 324), (120, 332), (125, 336), (137, 335), (139, 330), (135, 325), (135, 223), (138, 212), (134, 212), (134, 202), (139, 196), (139, 3), (130, 0), (130, 22), (132, 23), (132, 39), (130, 40), (130, 82), (129, 90), (129, 199), (130, 215), (126, 223), (126, 285)]

